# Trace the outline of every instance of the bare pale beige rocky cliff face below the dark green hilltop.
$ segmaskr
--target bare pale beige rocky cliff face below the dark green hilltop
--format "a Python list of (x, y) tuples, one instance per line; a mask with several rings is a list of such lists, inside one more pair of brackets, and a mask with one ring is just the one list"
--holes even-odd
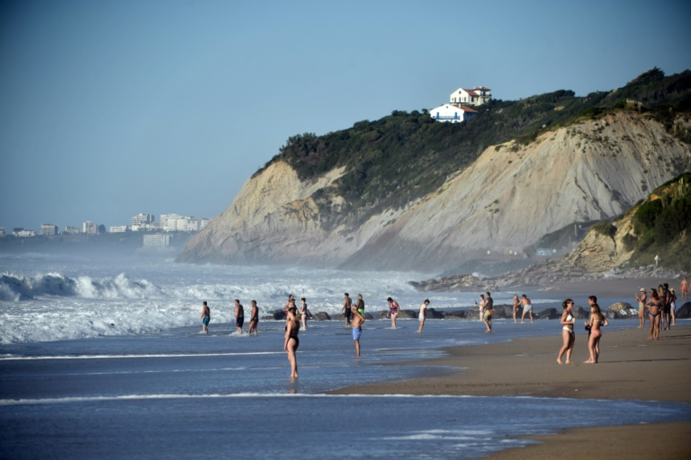
[[(526, 146), (492, 146), (470, 168), (450, 171), (444, 186), (424, 199), (327, 231), (310, 196), (337, 188), (343, 168), (301, 183), (277, 162), (245, 183), (180, 260), (441, 272), (468, 254), (520, 251), (569, 223), (622, 214), (690, 168), (688, 145), (645, 114), (617, 112), (547, 132)], [(329, 212), (339, 204), (332, 200)], [(618, 257), (600, 252), (603, 263)]]

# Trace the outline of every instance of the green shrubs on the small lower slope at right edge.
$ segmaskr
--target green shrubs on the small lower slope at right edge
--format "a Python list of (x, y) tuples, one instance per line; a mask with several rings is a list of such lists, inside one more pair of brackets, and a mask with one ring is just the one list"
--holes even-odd
[(659, 255), (661, 264), (691, 269), (691, 173), (656, 188), (633, 215), (634, 233), (626, 234), (627, 250), (634, 250), (630, 264), (646, 265)]

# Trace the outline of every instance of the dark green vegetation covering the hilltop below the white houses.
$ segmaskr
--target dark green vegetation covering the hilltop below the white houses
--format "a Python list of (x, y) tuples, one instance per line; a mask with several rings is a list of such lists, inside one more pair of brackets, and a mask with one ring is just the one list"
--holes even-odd
[[(655, 68), (612, 92), (576, 97), (573, 91), (559, 90), (520, 101), (493, 100), (477, 110), (477, 117), (466, 123), (439, 123), (426, 110), (394, 111), (323, 136), (298, 134), (266, 166), (286, 161), (305, 181), (345, 166), (337, 189), (319, 190), (312, 198), (327, 227), (345, 219), (363, 221), (437, 190), (449, 174), (471, 165), (491, 145), (511, 139), (527, 143), (584, 117), (614, 110), (650, 112), (688, 142), (691, 134), (674, 126), (674, 119), (679, 112), (691, 112), (691, 71), (665, 77)], [(333, 194), (345, 199), (338, 212), (330, 212)]]

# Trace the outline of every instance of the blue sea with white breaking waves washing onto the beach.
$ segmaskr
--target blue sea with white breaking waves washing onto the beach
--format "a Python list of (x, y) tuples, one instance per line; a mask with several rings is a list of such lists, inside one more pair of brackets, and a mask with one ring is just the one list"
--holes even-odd
[[(691, 405), (656, 401), (327, 394), (464, 372), (422, 365), (449, 346), (553, 335), (556, 353), (557, 321), (500, 319), (485, 334), (480, 321), (428, 319), (418, 334), (417, 319), (397, 328), (372, 319), (360, 359), (343, 320), (308, 321), (298, 379), (289, 377), (284, 321), (261, 319), (257, 337), (247, 323), (242, 334), (234, 325), (234, 299), (245, 308), (256, 300), (264, 316), (294, 294), (313, 313), (335, 316), (349, 292), (376, 316), (387, 297), (404, 310), (427, 297), (430, 308), (452, 310), (471, 308), (480, 294), (408, 283), (432, 275), (0, 254), (0, 458), (476, 459), (533, 443), (518, 438), (527, 434), (691, 419)], [(514, 293), (523, 292), (493, 292), (495, 303)], [(563, 300), (525, 293), (537, 311)], [(202, 301), (208, 334), (200, 333)], [(618, 320), (609, 329), (635, 326)]]

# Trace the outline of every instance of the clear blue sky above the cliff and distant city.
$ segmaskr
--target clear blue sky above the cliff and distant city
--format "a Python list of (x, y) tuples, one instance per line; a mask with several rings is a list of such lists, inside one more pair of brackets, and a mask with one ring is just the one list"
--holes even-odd
[(215, 217), (285, 140), (691, 68), (689, 1), (0, 1), (0, 226)]

